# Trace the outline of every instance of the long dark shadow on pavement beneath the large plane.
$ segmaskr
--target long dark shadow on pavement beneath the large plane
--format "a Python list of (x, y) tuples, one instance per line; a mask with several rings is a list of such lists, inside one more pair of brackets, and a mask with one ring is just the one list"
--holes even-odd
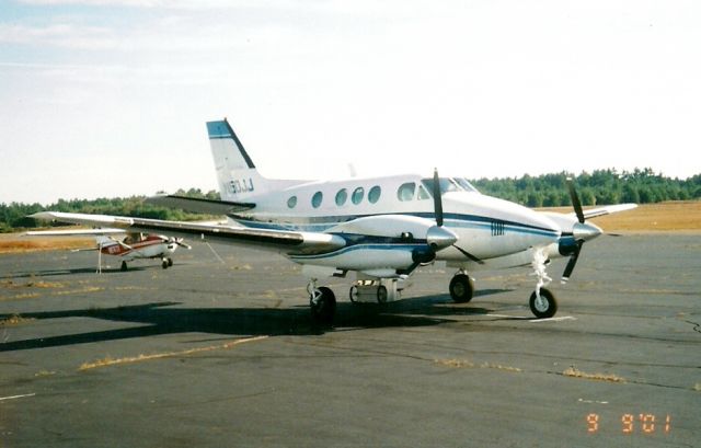
[[(479, 296), (503, 290), (480, 291)], [(69, 346), (74, 344), (147, 337), (176, 333), (209, 333), (237, 336), (319, 335), (334, 329), (363, 330), (374, 328), (428, 326), (452, 322), (457, 315), (486, 314), (492, 310), (470, 305), (451, 307), (446, 296), (407, 298), (397, 302), (354, 305), (338, 302), (332, 326), (314, 324), (308, 307), (290, 308), (177, 308), (180, 302), (162, 301), (115, 308), (38, 311), (22, 313), (23, 319), (44, 320), (91, 318), (107, 321), (142, 323), (105, 331), (65, 334), (41, 338), (7, 341), (0, 352)], [(11, 319), (0, 314), (0, 321)]]

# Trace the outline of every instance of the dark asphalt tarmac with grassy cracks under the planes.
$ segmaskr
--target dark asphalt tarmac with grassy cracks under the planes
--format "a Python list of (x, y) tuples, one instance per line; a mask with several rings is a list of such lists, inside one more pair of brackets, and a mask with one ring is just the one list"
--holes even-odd
[(382, 308), (332, 279), (330, 329), (298, 266), (215, 249), (0, 255), (0, 447), (699, 446), (699, 236), (585, 244), (543, 321), (525, 269), (462, 305), (439, 265)]

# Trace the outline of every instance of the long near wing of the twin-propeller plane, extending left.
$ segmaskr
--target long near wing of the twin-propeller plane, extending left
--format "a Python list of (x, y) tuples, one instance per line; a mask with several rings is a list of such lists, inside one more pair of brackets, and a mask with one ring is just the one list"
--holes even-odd
[(230, 244), (255, 245), (256, 248), (296, 254), (324, 253), (346, 245), (346, 241), (338, 236), (319, 232), (249, 229), (202, 222), (166, 221), (160, 219), (70, 214), (62, 211), (41, 211), (30, 215), (30, 217), (91, 227), (116, 228), (123, 229), (123, 232), (161, 232)]

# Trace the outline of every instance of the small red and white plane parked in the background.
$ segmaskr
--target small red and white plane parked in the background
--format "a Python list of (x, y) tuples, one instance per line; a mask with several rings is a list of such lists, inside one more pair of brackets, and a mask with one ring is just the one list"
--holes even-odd
[(191, 249), (182, 238), (169, 238), (152, 233), (129, 232), (124, 236), (123, 229), (92, 229), (92, 230), (39, 230), (26, 232), (28, 237), (76, 237), (93, 236), (96, 246), (78, 249), (73, 252), (97, 251), (97, 273), (102, 272), (102, 255), (114, 255), (122, 260), (120, 269), (127, 271), (127, 262), (142, 259), (161, 259), (161, 266), (168, 268), (173, 265), (171, 255), (179, 246)]

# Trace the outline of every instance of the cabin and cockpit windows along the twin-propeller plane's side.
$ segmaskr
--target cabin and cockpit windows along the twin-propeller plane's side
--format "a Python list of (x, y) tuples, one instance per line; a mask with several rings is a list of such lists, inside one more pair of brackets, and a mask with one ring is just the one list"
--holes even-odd
[[(433, 179), (424, 179), (422, 180), (422, 183), (418, 185), (416, 185), (415, 182), (406, 182), (405, 184), (400, 185), (400, 187), (397, 189), (397, 198), (401, 202), (414, 200), (414, 199), (418, 199), (418, 200), (430, 199), (432, 196), (428, 192), (433, 191), (434, 188), (433, 185), (434, 185)], [(460, 179), (459, 177), (455, 177), (455, 179), (441, 177), (439, 180), (439, 186), (440, 186), (440, 193), (459, 192), (459, 191), (476, 192), (476, 189), (467, 180), (461, 177)], [(370, 191), (368, 192), (368, 202), (370, 204), (376, 204), (378, 200), (380, 200), (381, 194), (382, 194), (382, 189), (379, 187), (379, 185), (371, 187)], [(365, 188), (361, 186), (355, 188), (353, 191), (353, 194), (350, 194), (350, 202), (355, 205), (360, 204), (364, 198), (365, 198)], [(323, 202), (323, 199), (324, 199), (323, 193), (321, 192), (314, 193), (314, 195), (311, 197), (312, 207), (314, 208), (321, 207), (321, 203)], [(341, 207), (345, 205), (347, 200), (348, 200), (348, 191), (346, 188), (341, 188), (336, 193), (336, 197), (335, 197), (336, 205)], [(291, 196), (289, 199), (287, 199), (287, 206), (289, 208), (297, 207), (297, 196)]]

